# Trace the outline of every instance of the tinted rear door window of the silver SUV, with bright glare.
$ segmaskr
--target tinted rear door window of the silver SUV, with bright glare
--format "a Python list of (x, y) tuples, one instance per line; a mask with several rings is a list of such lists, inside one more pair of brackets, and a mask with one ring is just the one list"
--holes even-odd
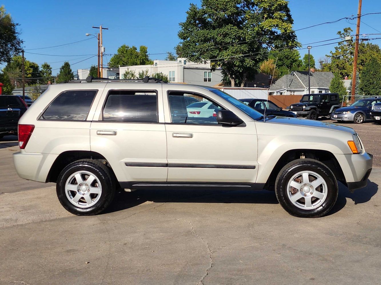
[(111, 90), (104, 106), (103, 120), (158, 122), (157, 93), (144, 90)]

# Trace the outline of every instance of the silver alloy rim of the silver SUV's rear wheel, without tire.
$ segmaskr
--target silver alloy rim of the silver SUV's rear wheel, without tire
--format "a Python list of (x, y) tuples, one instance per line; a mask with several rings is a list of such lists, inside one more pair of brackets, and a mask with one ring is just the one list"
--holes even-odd
[(74, 206), (88, 208), (101, 198), (102, 185), (93, 173), (77, 171), (66, 180), (65, 193)]

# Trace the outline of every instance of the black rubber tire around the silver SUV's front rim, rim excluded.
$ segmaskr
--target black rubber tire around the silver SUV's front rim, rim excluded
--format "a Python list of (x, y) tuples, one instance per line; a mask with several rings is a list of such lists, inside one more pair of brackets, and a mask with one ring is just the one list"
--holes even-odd
[[(295, 206), (290, 198), (288, 198), (288, 182), (295, 174), (301, 171), (313, 171), (319, 174), (327, 184), (327, 196), (325, 200), (314, 209), (301, 209)], [(275, 181), (275, 194), (279, 204), (289, 214), (301, 218), (317, 218), (327, 214), (335, 205), (338, 196), (338, 184), (335, 175), (325, 164), (313, 159), (297, 159), (291, 161), (280, 170)]]

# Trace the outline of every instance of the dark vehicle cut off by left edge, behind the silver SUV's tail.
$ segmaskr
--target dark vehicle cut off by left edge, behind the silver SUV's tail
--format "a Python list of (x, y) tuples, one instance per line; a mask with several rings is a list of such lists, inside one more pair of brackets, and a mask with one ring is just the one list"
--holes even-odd
[(19, 97), (0, 95), (0, 138), (17, 134), (17, 123), (26, 109), (26, 103)]

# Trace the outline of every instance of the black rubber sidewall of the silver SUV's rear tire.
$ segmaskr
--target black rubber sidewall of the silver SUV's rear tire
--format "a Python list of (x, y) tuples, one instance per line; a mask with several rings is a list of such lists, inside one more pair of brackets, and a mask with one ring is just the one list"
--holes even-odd
[[(98, 177), (98, 180), (102, 186), (102, 193), (99, 200), (91, 207), (87, 208), (81, 208), (77, 207), (74, 204), (72, 204), (69, 199), (66, 196), (66, 181), (69, 179), (69, 177), (77, 172), (77, 171), (88, 171), (92, 174), (94, 174), (96, 177)], [(107, 177), (107, 173), (104, 171), (104, 169), (93, 165), (91, 163), (72, 163), (66, 168), (64, 168), (59, 174), (57, 179), (57, 185), (56, 185), (56, 191), (57, 191), (57, 197), (62, 204), (62, 206), (69, 211), (72, 214), (75, 215), (91, 215), (96, 212), (101, 211), (101, 209), (104, 209), (105, 205), (108, 204), (109, 196), (112, 196), (112, 185), (109, 183)]]

